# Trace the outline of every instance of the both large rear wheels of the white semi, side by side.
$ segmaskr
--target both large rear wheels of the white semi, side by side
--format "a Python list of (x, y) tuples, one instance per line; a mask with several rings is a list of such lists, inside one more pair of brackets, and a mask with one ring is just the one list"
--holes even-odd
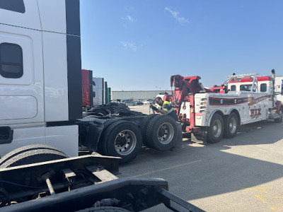
[(158, 151), (168, 151), (177, 140), (177, 124), (168, 115), (151, 114), (137, 126), (134, 122), (110, 120), (105, 123), (98, 143), (103, 155), (128, 163), (137, 157), (142, 143)]

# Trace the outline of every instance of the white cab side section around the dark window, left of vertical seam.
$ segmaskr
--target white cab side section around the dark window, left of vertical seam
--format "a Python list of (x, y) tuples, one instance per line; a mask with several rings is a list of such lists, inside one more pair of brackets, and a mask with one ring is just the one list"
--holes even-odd
[(0, 1), (0, 125), (44, 121), (42, 33), (35, 0)]

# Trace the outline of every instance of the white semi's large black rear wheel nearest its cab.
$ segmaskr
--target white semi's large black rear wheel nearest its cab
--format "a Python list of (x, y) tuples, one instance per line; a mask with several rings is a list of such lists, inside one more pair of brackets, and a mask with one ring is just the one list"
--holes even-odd
[(108, 126), (101, 141), (106, 155), (120, 157), (120, 163), (128, 163), (137, 157), (142, 136), (136, 124), (118, 121)]

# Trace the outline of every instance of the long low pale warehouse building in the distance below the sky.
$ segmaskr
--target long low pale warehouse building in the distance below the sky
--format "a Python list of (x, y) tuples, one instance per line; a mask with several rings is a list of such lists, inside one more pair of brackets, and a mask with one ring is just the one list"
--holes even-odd
[(111, 100), (154, 100), (158, 94), (171, 94), (171, 90), (122, 90), (112, 91)]

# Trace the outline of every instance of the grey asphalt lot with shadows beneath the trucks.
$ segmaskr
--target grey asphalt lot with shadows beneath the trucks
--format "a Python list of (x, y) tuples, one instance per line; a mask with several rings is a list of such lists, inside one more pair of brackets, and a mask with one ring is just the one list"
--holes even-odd
[[(149, 113), (149, 105), (132, 106)], [(246, 124), (233, 139), (159, 152), (145, 146), (118, 177), (166, 179), (169, 191), (204, 211), (283, 211), (283, 123)], [(170, 211), (158, 205), (146, 211)]]

